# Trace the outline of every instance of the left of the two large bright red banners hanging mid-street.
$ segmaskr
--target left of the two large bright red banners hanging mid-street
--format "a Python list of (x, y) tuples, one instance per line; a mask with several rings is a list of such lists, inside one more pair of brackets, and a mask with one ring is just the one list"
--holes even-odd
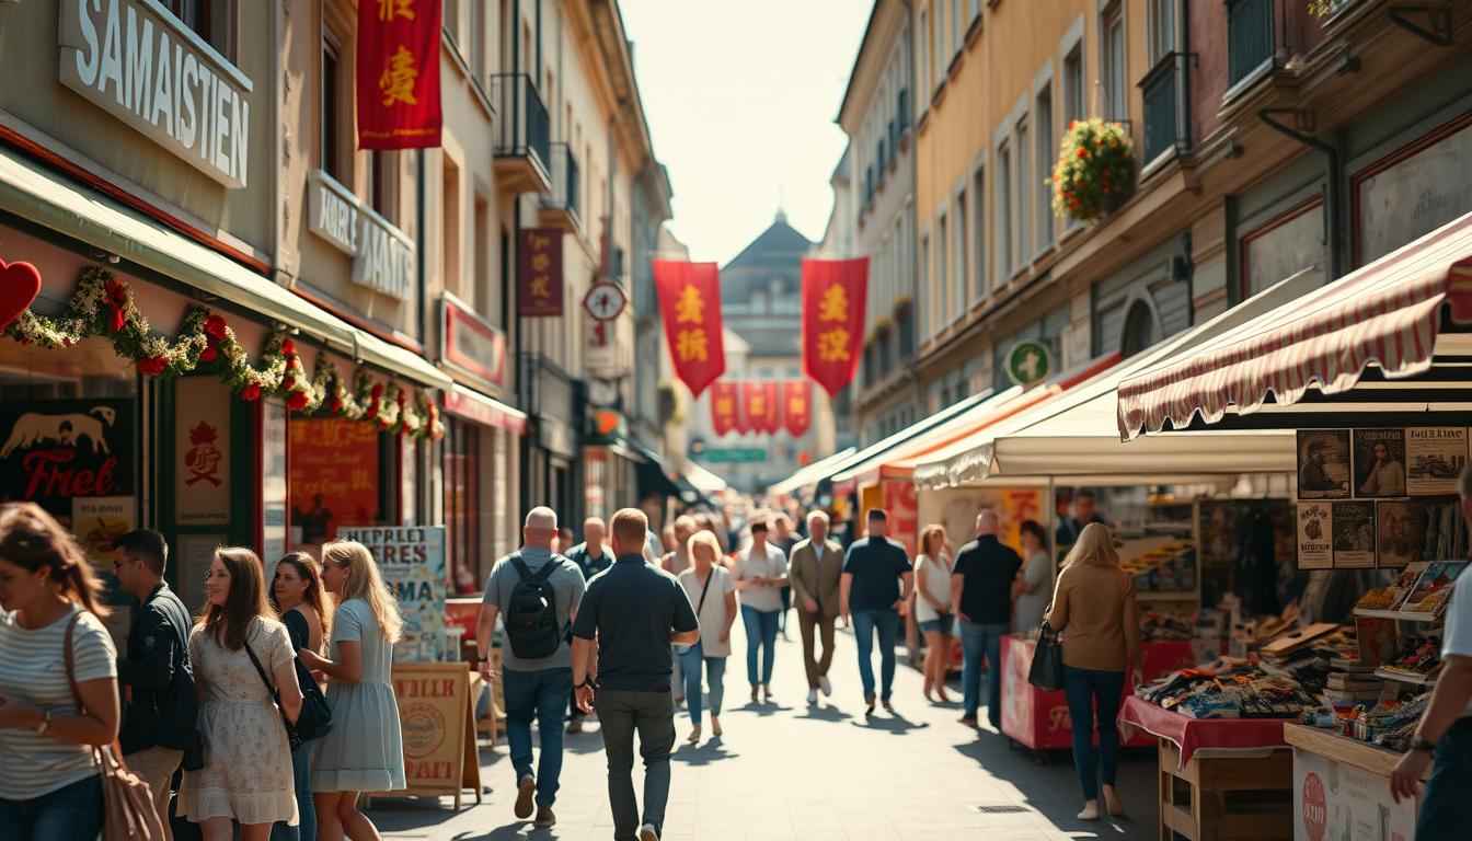
[(721, 281), (714, 262), (654, 261), (674, 373), (696, 398), (726, 371), (721, 342)]

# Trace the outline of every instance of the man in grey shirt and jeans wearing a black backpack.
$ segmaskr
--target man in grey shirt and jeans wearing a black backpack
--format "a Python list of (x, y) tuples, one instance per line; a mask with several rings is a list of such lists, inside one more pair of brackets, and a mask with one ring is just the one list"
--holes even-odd
[[(480, 676), (495, 682), (490, 635), (500, 617), (500, 676), (506, 695), (506, 742), (517, 772), (517, 817), (536, 810), (534, 826), (556, 823), (558, 776), (562, 773), (562, 719), (573, 694), (570, 632), (583, 599), (583, 571), (552, 552), (556, 513), (537, 507), (527, 513), (521, 549), (496, 561), (475, 623)], [(531, 719), (542, 736), (537, 773), (531, 773)]]

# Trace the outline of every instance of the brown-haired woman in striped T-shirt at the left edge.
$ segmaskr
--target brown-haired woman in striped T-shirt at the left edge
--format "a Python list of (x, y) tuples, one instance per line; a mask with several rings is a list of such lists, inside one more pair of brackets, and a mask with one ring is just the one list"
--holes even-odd
[[(0, 838), (96, 838), (93, 745), (118, 738), (118, 652), (102, 586), (71, 535), (32, 502), (0, 505)], [(71, 645), (77, 695), (57, 663)]]

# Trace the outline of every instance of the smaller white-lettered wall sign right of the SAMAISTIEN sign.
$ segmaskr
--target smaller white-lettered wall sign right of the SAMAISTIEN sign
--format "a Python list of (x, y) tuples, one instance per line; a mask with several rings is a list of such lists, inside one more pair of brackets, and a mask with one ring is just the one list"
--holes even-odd
[(314, 169), (306, 180), (306, 228), (356, 258), (353, 283), (409, 299), (414, 240), (321, 169)]

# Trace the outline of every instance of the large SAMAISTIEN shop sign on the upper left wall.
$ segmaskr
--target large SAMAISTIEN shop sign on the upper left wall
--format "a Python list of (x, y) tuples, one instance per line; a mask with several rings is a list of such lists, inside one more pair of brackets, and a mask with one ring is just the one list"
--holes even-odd
[(250, 161), (250, 80), (153, 0), (62, 0), (62, 84), (233, 189)]

